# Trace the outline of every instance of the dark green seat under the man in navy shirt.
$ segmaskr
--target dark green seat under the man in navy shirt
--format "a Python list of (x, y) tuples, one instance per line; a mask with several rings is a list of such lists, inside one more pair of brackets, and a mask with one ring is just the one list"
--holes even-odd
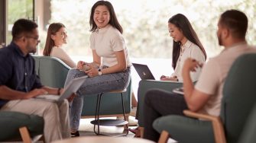
[(44, 119), (40, 116), (24, 113), (0, 111), (0, 141), (21, 138), (19, 128), (26, 126), (30, 135), (44, 133)]

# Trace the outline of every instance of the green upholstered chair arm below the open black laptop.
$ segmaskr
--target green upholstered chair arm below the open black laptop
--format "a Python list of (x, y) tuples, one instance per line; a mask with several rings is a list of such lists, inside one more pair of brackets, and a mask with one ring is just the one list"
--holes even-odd
[(174, 88), (182, 87), (182, 82), (175, 81), (155, 81), (155, 80), (141, 80), (138, 86), (138, 125), (144, 127), (144, 97), (147, 91), (157, 88), (166, 91), (173, 91)]

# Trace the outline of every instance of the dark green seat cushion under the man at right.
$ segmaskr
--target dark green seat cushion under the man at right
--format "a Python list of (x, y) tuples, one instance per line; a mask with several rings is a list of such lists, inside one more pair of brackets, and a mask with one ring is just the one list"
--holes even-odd
[(156, 119), (153, 126), (157, 132), (164, 130), (169, 132), (171, 138), (178, 138), (179, 142), (215, 142), (212, 132), (212, 122), (209, 121), (170, 115)]

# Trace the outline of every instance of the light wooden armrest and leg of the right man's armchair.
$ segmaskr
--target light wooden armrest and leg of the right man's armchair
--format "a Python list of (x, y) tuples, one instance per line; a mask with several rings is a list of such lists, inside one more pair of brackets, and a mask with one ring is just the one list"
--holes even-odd
[(222, 126), (222, 120), (220, 119), (219, 116), (210, 116), (202, 113), (194, 113), (190, 110), (184, 110), (183, 113), (186, 116), (190, 116), (193, 118), (198, 118), (198, 119), (205, 119), (209, 120), (212, 122), (212, 127), (213, 127), (213, 132), (214, 132), (214, 137), (215, 137), (215, 142), (217, 143), (225, 143), (225, 132)]

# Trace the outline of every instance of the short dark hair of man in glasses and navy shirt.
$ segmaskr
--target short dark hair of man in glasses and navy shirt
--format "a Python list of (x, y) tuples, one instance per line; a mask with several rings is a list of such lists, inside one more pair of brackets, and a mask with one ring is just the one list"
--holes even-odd
[(34, 21), (28, 19), (19, 19), (18, 21), (15, 21), (11, 30), (12, 40), (18, 40), (18, 38), (22, 36), (22, 33), (31, 33), (37, 27), (38, 26)]

